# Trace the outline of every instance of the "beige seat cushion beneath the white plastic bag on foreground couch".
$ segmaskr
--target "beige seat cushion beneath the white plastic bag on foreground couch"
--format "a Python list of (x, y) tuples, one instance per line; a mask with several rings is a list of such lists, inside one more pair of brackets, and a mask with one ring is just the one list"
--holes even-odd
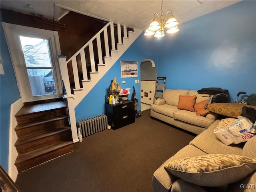
[(219, 124), (220, 120), (214, 121), (214, 123), (204, 130), (198, 136), (196, 136), (190, 145), (193, 145), (207, 154), (238, 154), (242, 155), (243, 143), (231, 144), (229, 146), (220, 142), (213, 133), (213, 130)]

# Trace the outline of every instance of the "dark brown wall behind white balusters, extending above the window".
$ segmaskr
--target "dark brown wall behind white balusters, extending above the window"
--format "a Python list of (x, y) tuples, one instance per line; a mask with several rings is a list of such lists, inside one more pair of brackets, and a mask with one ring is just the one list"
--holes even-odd
[[(92, 18), (86, 15), (78, 14), (76, 12), (70, 11), (66, 14), (62, 19), (60, 19), (60, 23), (65, 24), (65, 28), (60, 26), (54, 26), (42, 22), (35, 21), (35, 16), (22, 14), (20, 12), (15, 12), (12, 10), (1, 9), (2, 21), (11, 24), (17, 24), (22, 26), (28, 26), (33, 28), (40, 28), (52, 31), (58, 31), (59, 40), (60, 40), (60, 49), (61, 54), (67, 57), (67, 60), (72, 57), (84, 44), (86, 44), (99, 30), (101, 30), (108, 22), (99, 20), (96, 18)], [(131, 28), (127, 28), (127, 31), (132, 30)], [(123, 30), (121, 30), (122, 36), (124, 35)], [(117, 26), (114, 25), (114, 33), (115, 33), (115, 42), (118, 42), (117, 37)], [(110, 37), (110, 28), (108, 27), (108, 37)], [(104, 47), (104, 38), (102, 39), (102, 54), (106, 56), (105, 47)], [(96, 71), (98, 64), (98, 51), (96, 47), (96, 40), (93, 42), (94, 46), (94, 57), (96, 63)], [(117, 49), (117, 44), (115, 45)], [(111, 49), (111, 41), (109, 40), (109, 47)], [(90, 79), (90, 58), (89, 50), (85, 49), (86, 54), (86, 66), (88, 71), (88, 79)], [(80, 79), (83, 79), (82, 75), (82, 66), (81, 60), (79, 56), (77, 58), (78, 65), (78, 73)], [(68, 63), (68, 75), (70, 77), (71, 87), (74, 85), (74, 77), (71, 62)]]

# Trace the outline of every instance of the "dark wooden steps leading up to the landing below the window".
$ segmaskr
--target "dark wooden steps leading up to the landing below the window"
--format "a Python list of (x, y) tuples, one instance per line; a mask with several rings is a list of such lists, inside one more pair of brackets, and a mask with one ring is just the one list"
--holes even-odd
[(32, 102), (15, 115), (18, 157), (15, 165), (22, 172), (48, 160), (74, 151), (69, 116), (64, 100)]

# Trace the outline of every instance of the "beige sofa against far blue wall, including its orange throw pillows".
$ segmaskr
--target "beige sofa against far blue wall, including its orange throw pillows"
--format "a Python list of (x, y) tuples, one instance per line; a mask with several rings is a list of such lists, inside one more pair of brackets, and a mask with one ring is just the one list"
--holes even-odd
[(157, 99), (150, 108), (150, 116), (194, 134), (208, 128), (218, 115), (204, 110), (209, 95), (195, 90), (166, 89), (163, 98)]

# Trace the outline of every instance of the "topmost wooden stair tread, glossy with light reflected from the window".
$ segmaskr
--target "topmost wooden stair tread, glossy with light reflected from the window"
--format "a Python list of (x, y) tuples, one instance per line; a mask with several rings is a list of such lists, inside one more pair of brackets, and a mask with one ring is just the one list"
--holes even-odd
[(66, 104), (64, 101), (56, 101), (35, 105), (24, 105), (15, 115), (15, 117), (24, 116), (31, 113), (38, 113), (58, 108), (66, 108)]

